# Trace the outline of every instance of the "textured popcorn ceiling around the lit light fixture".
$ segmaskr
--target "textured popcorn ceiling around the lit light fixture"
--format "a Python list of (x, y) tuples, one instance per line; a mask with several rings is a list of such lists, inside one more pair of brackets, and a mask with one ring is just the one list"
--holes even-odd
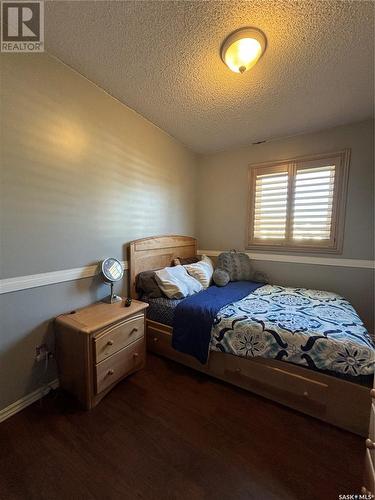
[[(45, 25), (51, 54), (197, 152), (372, 115), (372, 1), (49, 1)], [(238, 75), (219, 51), (243, 26), (268, 47)]]

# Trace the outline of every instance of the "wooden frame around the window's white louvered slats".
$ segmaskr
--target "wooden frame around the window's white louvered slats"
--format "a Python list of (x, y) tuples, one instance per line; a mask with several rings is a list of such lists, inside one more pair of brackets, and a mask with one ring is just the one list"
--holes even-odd
[[(344, 239), (345, 226), (345, 206), (348, 189), (350, 149), (344, 149), (334, 153), (325, 153), (319, 155), (300, 156), (288, 160), (275, 162), (258, 163), (249, 165), (249, 195), (248, 211), (246, 224), (246, 248), (248, 250), (270, 250), (287, 252), (319, 252), (341, 254)], [(298, 169), (307, 169), (328, 165), (329, 161), (335, 164), (335, 183), (333, 192), (331, 238), (319, 243), (317, 240), (303, 240), (293, 243), (291, 237), (292, 231), (292, 208), (294, 203), (294, 183), (297, 167)], [(289, 173), (288, 195), (287, 195), (287, 219), (286, 219), (286, 237), (283, 240), (260, 240), (253, 236), (254, 233), (254, 215), (255, 215), (255, 183), (259, 174), (285, 172)]]

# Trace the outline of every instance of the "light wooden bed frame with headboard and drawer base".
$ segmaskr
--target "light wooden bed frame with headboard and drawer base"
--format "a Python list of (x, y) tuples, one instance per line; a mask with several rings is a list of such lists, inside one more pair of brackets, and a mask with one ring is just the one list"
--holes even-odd
[[(136, 276), (171, 265), (176, 257), (197, 254), (197, 241), (188, 236), (157, 236), (130, 243), (130, 291), (137, 298)], [(172, 327), (146, 321), (148, 350), (277, 401), (342, 429), (366, 436), (370, 389), (352, 382), (274, 359), (241, 358), (210, 352), (207, 365), (174, 350)]]

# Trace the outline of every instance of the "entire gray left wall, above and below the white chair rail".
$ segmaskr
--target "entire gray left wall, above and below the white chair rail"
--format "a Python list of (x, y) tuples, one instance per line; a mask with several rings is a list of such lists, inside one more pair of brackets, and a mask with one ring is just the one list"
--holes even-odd
[[(195, 156), (47, 54), (1, 58), (1, 278), (125, 259), (151, 234), (195, 233)], [(0, 295), (0, 409), (55, 378), (34, 363), (51, 319), (96, 279)]]

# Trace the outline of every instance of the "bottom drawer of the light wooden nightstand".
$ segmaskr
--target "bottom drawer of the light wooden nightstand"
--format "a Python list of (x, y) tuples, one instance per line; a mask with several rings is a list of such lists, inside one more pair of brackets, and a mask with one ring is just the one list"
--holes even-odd
[(140, 368), (145, 361), (144, 338), (133, 342), (95, 367), (96, 393), (107, 389), (124, 375)]

